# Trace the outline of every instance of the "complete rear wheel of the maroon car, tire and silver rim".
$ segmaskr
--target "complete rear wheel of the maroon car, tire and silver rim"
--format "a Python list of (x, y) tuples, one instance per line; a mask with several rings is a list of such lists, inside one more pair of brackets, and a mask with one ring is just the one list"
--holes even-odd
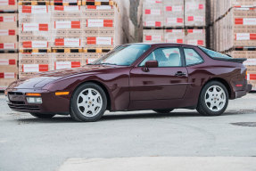
[(228, 104), (228, 93), (225, 85), (211, 81), (202, 88), (196, 110), (204, 116), (219, 116)]

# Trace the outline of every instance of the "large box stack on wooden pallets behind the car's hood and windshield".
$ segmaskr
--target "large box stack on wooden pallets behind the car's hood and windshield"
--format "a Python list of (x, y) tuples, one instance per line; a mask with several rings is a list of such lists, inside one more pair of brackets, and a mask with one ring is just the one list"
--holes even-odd
[(20, 77), (80, 67), (120, 45), (119, 12), (110, 0), (20, 1), (19, 12)]

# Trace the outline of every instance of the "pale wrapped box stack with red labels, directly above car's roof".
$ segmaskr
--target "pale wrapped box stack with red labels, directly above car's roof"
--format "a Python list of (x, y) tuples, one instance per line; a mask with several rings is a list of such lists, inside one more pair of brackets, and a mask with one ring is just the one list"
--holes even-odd
[(145, 0), (144, 42), (206, 45), (205, 0)]

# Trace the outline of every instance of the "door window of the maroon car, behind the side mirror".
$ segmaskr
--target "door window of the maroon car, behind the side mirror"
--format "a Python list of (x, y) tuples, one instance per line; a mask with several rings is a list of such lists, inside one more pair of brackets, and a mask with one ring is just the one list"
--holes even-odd
[(145, 66), (146, 61), (158, 61), (159, 67), (180, 67), (182, 66), (181, 56), (177, 47), (159, 48), (150, 53), (139, 66)]

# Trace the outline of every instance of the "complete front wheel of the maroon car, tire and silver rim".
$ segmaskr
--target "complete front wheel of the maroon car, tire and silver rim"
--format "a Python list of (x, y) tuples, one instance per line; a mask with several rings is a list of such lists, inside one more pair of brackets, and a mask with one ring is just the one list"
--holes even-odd
[(94, 122), (102, 118), (107, 107), (103, 88), (93, 83), (80, 85), (72, 95), (70, 117), (76, 121)]

